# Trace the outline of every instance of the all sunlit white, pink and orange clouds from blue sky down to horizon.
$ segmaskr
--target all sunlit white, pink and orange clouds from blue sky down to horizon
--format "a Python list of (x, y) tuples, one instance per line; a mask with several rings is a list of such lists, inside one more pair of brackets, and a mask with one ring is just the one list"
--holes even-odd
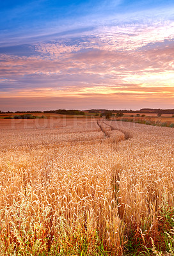
[(0, 47), (0, 109), (22, 108), (22, 99), (38, 110), (174, 108), (174, 22), (168, 9), (158, 12), (136, 10), (134, 20), (91, 13), (88, 29), (83, 17), (68, 33), (15, 35), (20, 44), (11, 35), (13, 44)]

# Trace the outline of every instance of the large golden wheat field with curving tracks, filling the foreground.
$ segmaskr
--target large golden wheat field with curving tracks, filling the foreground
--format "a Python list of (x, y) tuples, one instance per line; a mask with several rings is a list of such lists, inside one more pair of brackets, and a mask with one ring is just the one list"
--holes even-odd
[(173, 161), (169, 127), (1, 119), (0, 255), (174, 255)]

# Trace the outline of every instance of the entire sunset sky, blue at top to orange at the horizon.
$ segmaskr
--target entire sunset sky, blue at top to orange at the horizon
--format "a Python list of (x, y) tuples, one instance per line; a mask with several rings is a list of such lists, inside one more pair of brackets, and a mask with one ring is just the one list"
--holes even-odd
[(174, 1), (0, 2), (0, 110), (174, 108)]

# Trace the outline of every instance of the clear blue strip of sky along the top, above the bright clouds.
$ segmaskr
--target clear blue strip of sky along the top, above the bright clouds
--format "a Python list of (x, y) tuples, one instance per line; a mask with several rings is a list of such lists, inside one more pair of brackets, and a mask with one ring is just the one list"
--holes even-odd
[(1, 1), (4, 45), (55, 39), (111, 24), (173, 19), (173, 1)]

